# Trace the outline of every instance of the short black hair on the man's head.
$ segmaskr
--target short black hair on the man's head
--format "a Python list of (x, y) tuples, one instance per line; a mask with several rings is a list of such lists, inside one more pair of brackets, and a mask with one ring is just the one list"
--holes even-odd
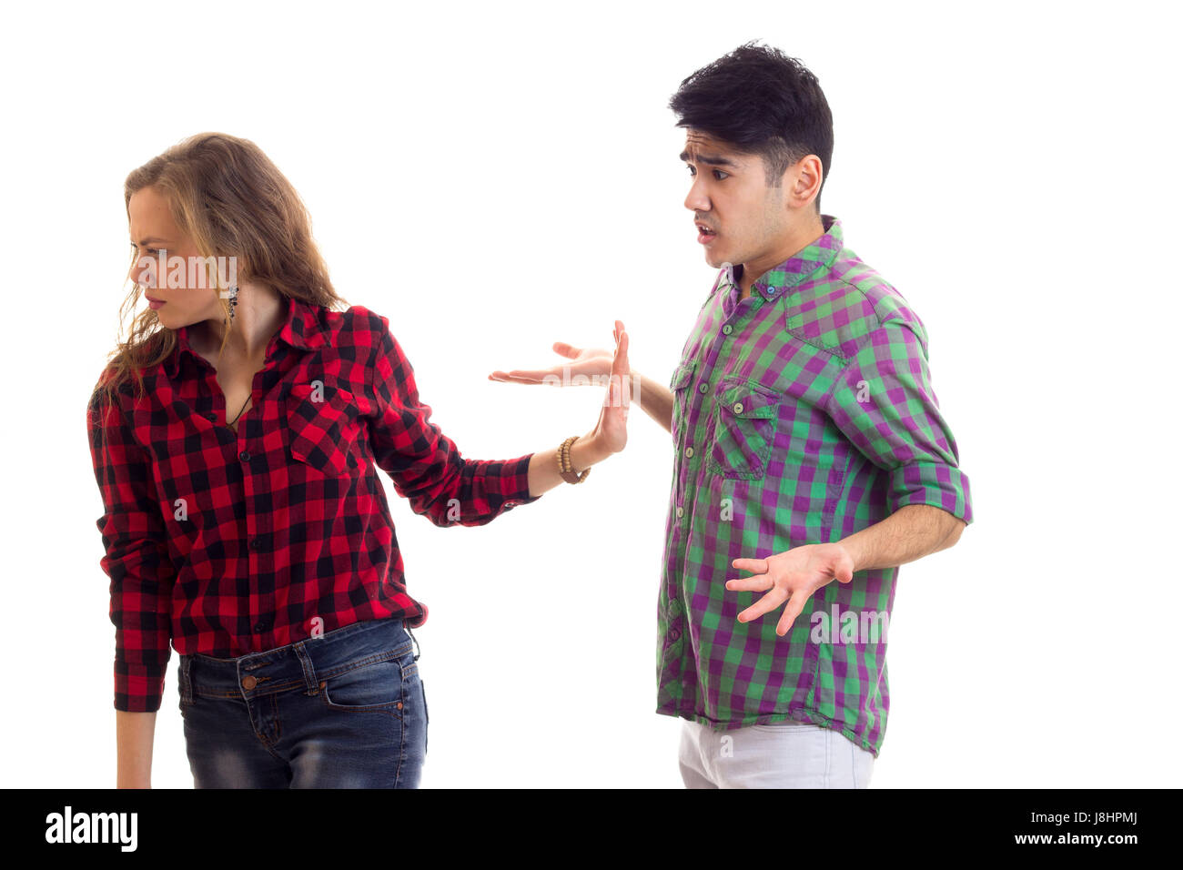
[(741, 45), (683, 79), (670, 98), (678, 127), (702, 130), (744, 154), (764, 159), (770, 186), (807, 154), (821, 160), (822, 183), (834, 153), (834, 118), (817, 77), (780, 49)]

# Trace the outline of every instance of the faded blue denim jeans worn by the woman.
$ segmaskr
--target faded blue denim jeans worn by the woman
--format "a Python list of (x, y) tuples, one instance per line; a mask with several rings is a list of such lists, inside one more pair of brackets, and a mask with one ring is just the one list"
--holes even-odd
[(427, 696), (401, 619), (238, 658), (181, 656), (196, 788), (416, 788)]

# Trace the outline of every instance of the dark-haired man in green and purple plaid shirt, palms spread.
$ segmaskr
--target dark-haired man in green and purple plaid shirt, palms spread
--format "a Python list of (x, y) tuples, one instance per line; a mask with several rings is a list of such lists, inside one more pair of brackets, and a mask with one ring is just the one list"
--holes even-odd
[[(969, 481), (924, 324), (821, 213), (833, 122), (816, 77), (748, 44), (670, 105), (720, 271), (671, 388), (633, 373), (675, 447), (658, 713), (686, 720), (689, 787), (865, 787), (898, 566), (957, 541)], [(608, 372), (608, 352), (556, 350), (569, 373)]]

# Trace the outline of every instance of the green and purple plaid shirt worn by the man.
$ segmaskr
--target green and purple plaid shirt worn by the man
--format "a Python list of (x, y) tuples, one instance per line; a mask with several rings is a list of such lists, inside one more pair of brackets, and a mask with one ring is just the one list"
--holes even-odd
[(732, 559), (839, 541), (905, 504), (971, 520), (924, 324), (843, 246), (836, 218), (822, 225), (746, 299), (732, 269), (720, 271), (670, 384), (658, 713), (716, 729), (794, 718), (878, 756), (888, 695), (877, 629), (890, 623), (899, 569), (827, 584), (784, 637), (783, 606), (739, 623), (763, 593), (724, 587), (748, 575)]

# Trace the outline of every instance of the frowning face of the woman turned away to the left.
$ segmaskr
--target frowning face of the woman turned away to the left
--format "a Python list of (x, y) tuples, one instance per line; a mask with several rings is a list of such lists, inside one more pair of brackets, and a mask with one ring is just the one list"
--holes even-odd
[(128, 230), (131, 247), (138, 253), (128, 277), (143, 288), (161, 326), (177, 329), (222, 318), (218, 288), (211, 286), (202, 268), (205, 258), (176, 226), (167, 196), (153, 187), (132, 193), (128, 201)]

